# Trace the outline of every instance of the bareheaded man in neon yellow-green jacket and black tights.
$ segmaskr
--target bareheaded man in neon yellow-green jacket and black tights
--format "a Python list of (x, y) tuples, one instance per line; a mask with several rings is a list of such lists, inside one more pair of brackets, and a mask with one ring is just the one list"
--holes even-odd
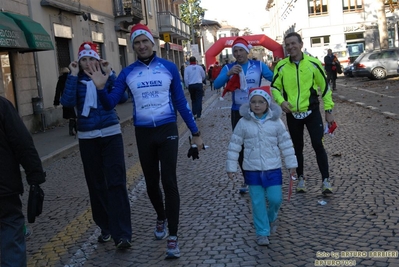
[(306, 126), (321, 173), (322, 193), (330, 194), (333, 190), (327, 153), (323, 145), (324, 126), (318, 90), (320, 88), (325, 120), (329, 126), (334, 123), (332, 91), (329, 89), (320, 60), (302, 53), (301, 36), (296, 32), (291, 32), (285, 36), (284, 43), (290, 56), (277, 63), (271, 87), (275, 101), (286, 113), (288, 130), (294, 143), (298, 160), (296, 190), (297, 192), (306, 191), (303, 173), (303, 131)]

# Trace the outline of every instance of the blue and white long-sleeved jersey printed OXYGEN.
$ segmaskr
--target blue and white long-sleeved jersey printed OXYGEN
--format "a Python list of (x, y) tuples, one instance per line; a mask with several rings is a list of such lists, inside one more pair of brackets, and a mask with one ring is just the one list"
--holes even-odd
[(106, 109), (112, 109), (128, 88), (133, 96), (133, 123), (136, 127), (157, 127), (176, 122), (176, 109), (192, 133), (198, 132), (193, 114), (173, 62), (154, 56), (149, 65), (137, 60), (124, 68), (110, 92), (98, 92)]

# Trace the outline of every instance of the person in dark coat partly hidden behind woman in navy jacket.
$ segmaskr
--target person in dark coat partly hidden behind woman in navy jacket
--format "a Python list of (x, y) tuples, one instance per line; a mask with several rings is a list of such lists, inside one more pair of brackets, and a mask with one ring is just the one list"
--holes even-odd
[[(54, 102), (53, 102), (54, 107), (57, 107), (60, 105), (60, 99), (61, 99), (62, 93), (64, 92), (65, 82), (68, 77), (68, 73), (69, 73), (69, 69), (67, 67), (64, 67), (61, 69), (61, 75), (58, 77), (57, 86), (55, 88), (55, 96), (54, 96)], [(62, 107), (62, 117), (64, 119), (69, 120), (69, 122), (68, 122), (69, 135), (74, 136), (77, 132), (75, 108), (63, 106)]]

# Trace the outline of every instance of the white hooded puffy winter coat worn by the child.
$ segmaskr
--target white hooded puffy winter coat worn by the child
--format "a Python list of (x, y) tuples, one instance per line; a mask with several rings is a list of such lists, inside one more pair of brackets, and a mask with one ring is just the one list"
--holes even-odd
[(281, 108), (271, 103), (264, 122), (255, 118), (249, 104), (240, 107), (243, 116), (231, 136), (226, 171), (236, 172), (239, 152), (244, 145), (243, 169), (266, 171), (282, 167), (281, 155), (287, 169), (298, 166), (291, 137), (280, 119)]

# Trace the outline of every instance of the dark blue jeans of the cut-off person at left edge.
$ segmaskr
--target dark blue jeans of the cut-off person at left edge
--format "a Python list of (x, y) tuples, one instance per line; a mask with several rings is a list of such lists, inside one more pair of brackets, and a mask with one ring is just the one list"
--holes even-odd
[(26, 266), (25, 219), (18, 194), (0, 198), (1, 266)]

